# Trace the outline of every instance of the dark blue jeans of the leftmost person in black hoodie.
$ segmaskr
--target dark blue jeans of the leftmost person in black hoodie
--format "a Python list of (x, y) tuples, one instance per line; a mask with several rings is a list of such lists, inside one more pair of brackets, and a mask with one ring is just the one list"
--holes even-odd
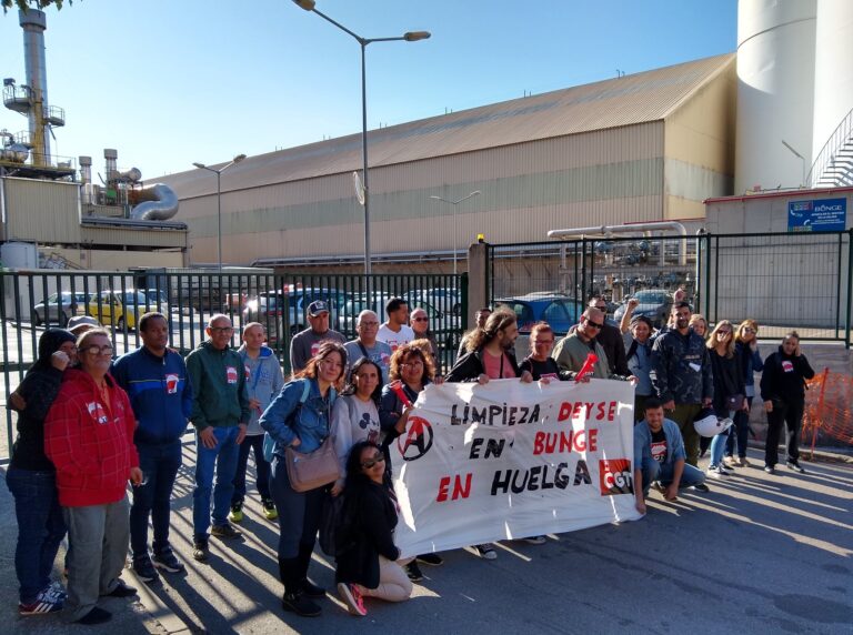
[(6, 484), (14, 496), (18, 518), (14, 573), (20, 584), (20, 601), (28, 604), (50, 584), (53, 561), (66, 536), (66, 521), (53, 472), (9, 467)]

